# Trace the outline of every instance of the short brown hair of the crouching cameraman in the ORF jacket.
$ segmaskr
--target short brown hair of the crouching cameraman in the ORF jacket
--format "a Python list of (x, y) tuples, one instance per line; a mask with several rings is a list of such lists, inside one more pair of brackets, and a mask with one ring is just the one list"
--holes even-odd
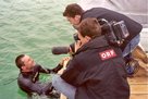
[(83, 20), (77, 29), (83, 37), (89, 36), (92, 38), (96, 36), (101, 36), (101, 26), (97, 18), (94, 17), (87, 17)]

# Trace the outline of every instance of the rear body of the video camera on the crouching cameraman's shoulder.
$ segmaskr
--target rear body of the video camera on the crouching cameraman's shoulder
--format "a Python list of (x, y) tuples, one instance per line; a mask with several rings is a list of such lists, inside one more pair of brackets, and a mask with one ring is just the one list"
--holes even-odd
[(110, 44), (120, 46), (130, 36), (124, 21), (108, 22), (104, 18), (100, 18), (98, 22), (101, 25), (102, 35), (106, 36)]

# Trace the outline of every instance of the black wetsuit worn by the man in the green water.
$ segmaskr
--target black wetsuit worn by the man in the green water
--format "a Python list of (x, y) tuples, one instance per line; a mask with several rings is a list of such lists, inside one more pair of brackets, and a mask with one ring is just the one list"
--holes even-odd
[(61, 69), (62, 65), (60, 64), (52, 70), (42, 69), (40, 65), (36, 64), (32, 72), (21, 72), (18, 74), (17, 84), (28, 96), (32, 96), (33, 92), (37, 92), (38, 95), (49, 95), (52, 90), (51, 83), (39, 83), (39, 73), (57, 73)]

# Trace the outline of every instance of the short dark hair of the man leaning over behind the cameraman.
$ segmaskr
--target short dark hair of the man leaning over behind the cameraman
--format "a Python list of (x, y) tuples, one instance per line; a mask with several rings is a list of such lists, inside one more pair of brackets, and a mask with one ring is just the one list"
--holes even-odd
[(76, 3), (69, 4), (63, 12), (63, 16), (74, 17), (75, 15), (82, 15), (84, 10)]

